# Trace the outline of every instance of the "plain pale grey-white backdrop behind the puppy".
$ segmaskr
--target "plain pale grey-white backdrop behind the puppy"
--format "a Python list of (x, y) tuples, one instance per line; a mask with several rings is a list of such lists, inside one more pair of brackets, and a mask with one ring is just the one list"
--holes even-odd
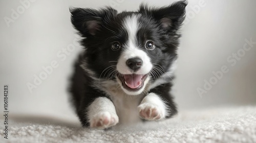
[[(23, 1), (22, 1), (23, 2)], [(20, 1), (0, 1), (0, 109), (3, 110), (3, 86), (9, 85), (9, 111), (19, 114), (75, 116), (68, 100), (68, 81), (72, 64), (81, 46), (63, 61), (57, 53), (73, 43), (76, 31), (70, 22), (69, 7), (100, 8), (119, 2), (114, 8), (135, 11), (142, 1), (60, 1), (37, 0), (7, 24), (12, 9)], [(150, 1), (150, 6), (166, 6), (174, 1)], [(117, 4), (116, 3), (116, 4)], [(227, 61), (243, 49), (245, 39), (256, 42), (256, 1), (189, 1), (187, 22), (182, 28), (174, 95), (179, 109), (207, 108), (256, 103), (256, 44), (237, 64)], [(193, 10), (194, 7), (194, 10)], [(22, 9), (20, 9), (22, 10)], [(9, 25), (9, 27), (8, 27)], [(74, 44), (77, 44), (74, 43)], [(63, 54), (63, 53), (62, 53)], [(58, 67), (32, 93), (27, 83), (56, 60)], [(229, 69), (212, 88), (199, 96), (212, 71)]]

